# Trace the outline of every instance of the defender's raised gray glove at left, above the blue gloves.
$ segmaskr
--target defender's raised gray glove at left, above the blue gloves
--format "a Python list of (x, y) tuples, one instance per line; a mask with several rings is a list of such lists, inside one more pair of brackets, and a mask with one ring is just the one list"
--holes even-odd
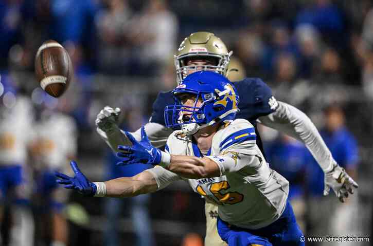
[(113, 109), (105, 106), (97, 115), (95, 121), (97, 128), (105, 133), (110, 133), (110, 131), (118, 127), (119, 115), (120, 108)]

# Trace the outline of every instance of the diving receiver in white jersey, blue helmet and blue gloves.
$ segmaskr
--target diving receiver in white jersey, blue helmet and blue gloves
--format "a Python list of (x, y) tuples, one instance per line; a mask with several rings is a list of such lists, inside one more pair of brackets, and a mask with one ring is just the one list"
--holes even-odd
[[(229, 245), (304, 245), (291, 205), (289, 183), (273, 171), (256, 145), (253, 125), (235, 120), (238, 95), (222, 75), (196, 72), (173, 90), (179, 104), (165, 108), (166, 123), (180, 126), (166, 152), (126, 133), (123, 164), (159, 165), (132, 178), (89, 182), (72, 162), (75, 177), (57, 174), (58, 183), (84, 195), (126, 197), (160, 190), (184, 179), (218, 207), (218, 231)], [(205, 153), (205, 157), (201, 153)], [(203, 157), (203, 158), (201, 158)]]

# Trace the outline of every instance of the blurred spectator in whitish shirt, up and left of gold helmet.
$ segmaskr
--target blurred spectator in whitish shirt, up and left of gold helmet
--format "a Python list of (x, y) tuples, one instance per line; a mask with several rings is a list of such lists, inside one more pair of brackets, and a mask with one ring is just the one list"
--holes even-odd
[[(148, 1), (143, 13), (131, 22), (131, 39), (137, 46), (141, 74), (159, 73), (176, 48), (179, 24), (167, 0)], [(134, 28), (135, 27), (135, 28)], [(134, 65), (134, 64), (133, 64)]]

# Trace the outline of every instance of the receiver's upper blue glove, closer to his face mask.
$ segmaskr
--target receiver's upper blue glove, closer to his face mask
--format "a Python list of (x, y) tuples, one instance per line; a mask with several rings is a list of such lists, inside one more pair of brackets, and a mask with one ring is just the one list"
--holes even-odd
[(117, 165), (127, 165), (133, 163), (144, 163), (157, 165), (161, 162), (162, 153), (161, 150), (153, 147), (150, 140), (145, 132), (145, 127), (141, 127), (141, 141), (138, 142), (130, 133), (126, 131), (126, 136), (132, 142), (132, 146), (118, 147), (123, 152), (118, 152), (117, 156), (125, 158), (122, 162)]

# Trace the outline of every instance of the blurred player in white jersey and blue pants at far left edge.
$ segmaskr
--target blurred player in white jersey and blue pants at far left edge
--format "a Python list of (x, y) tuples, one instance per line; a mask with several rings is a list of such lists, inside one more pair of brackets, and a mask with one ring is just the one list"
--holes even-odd
[(31, 100), (16, 92), (9, 74), (2, 73), (0, 78), (0, 223), (4, 206), (10, 206), (9, 245), (28, 246), (34, 240), (27, 166), (34, 111)]

